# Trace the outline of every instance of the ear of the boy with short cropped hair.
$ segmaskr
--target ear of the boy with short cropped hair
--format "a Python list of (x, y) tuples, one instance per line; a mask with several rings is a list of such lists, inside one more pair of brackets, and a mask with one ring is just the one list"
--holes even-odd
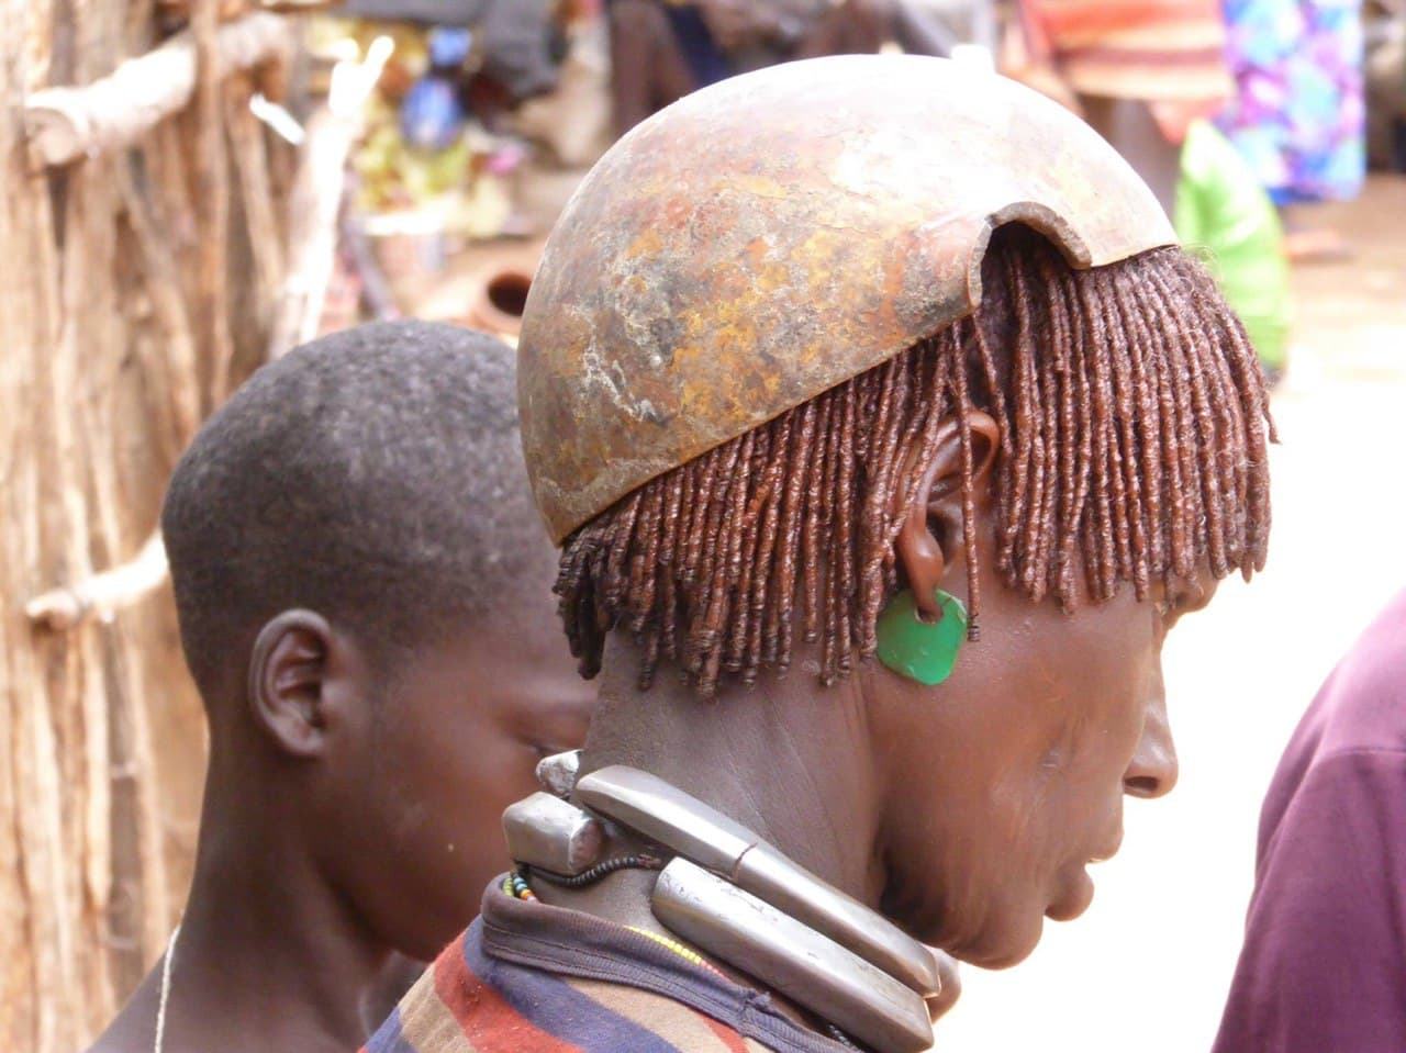
[(254, 640), (249, 710), (276, 748), (321, 756), (326, 745), (326, 678), (332, 627), (311, 610), (285, 610)]

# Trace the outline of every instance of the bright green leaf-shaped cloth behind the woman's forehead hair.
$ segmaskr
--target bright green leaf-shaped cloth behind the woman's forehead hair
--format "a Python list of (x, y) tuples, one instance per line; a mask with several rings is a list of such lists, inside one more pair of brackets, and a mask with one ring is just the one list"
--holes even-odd
[(1177, 236), (1205, 259), (1265, 366), (1282, 368), (1289, 335), (1289, 266), (1279, 217), (1250, 166), (1208, 121), (1181, 150)]

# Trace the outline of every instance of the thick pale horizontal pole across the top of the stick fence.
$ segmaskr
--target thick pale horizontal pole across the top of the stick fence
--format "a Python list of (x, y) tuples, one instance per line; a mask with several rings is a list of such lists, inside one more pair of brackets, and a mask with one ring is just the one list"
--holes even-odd
[[(291, 27), (276, 14), (250, 14), (219, 28), (215, 55), (221, 76), (288, 60)], [(194, 91), (195, 39), (186, 30), (91, 84), (35, 91), (24, 103), (24, 121), (35, 156), (67, 164), (135, 142)]]

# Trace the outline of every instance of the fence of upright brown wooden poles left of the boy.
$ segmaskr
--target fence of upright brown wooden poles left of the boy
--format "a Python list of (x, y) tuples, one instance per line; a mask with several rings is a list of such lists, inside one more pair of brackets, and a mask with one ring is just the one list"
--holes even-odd
[(0, 1050), (80, 1049), (188, 879), (204, 723), (155, 527), (285, 239), (247, 100), (291, 34), (215, 8), (163, 42), (152, 0), (0, 0)]

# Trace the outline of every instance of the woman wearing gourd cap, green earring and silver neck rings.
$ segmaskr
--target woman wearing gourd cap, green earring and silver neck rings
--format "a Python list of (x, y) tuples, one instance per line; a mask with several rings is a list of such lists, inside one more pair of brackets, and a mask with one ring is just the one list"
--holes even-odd
[(1177, 779), (1163, 640), (1270, 527), (1243, 326), (1053, 103), (828, 59), (606, 155), (519, 394), (600, 709), (371, 1049), (927, 1049), (928, 948), (1025, 957)]

